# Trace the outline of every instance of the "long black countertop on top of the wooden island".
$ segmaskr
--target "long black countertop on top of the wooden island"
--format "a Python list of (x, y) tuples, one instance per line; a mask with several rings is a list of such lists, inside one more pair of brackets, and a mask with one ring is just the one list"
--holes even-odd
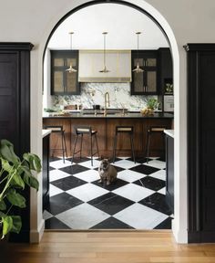
[(94, 112), (90, 111), (80, 111), (80, 112), (70, 112), (67, 114), (56, 114), (56, 113), (44, 113), (44, 119), (173, 119), (174, 114), (166, 112), (154, 112), (152, 115), (143, 115), (140, 112), (107, 112), (107, 115), (104, 115), (103, 112)]

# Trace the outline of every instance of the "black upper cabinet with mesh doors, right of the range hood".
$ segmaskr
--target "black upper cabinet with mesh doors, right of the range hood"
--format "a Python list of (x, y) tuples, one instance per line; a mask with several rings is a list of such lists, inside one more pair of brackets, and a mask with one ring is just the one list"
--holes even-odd
[(132, 50), (131, 67), (142, 68), (143, 72), (132, 71), (131, 95), (153, 95), (158, 92), (157, 50)]

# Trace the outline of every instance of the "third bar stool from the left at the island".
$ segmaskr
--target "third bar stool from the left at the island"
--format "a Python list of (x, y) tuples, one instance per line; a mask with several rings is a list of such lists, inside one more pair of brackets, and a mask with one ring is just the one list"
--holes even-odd
[(133, 161), (136, 163), (135, 160), (135, 153), (134, 153), (134, 127), (133, 126), (116, 126), (116, 132), (114, 137), (114, 148), (113, 148), (113, 163), (116, 159), (116, 152), (117, 152), (117, 145), (118, 145), (118, 133), (128, 133), (130, 136), (130, 147), (132, 152)]

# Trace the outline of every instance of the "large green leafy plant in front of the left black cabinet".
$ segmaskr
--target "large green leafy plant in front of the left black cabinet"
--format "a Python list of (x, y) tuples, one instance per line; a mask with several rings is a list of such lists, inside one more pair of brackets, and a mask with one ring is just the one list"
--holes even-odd
[[(36, 172), (33, 172), (36, 171)], [(0, 231), (2, 238), (9, 232), (19, 233), (21, 216), (13, 215), (12, 207), (26, 207), (26, 198), (21, 195), (26, 185), (38, 190), (34, 173), (41, 171), (39, 157), (24, 153), (21, 160), (15, 155), (14, 145), (7, 140), (0, 142)]]

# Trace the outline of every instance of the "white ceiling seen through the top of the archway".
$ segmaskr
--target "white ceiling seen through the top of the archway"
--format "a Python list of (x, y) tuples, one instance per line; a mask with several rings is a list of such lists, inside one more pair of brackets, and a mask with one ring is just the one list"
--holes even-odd
[(48, 48), (69, 49), (73, 31), (72, 49), (102, 49), (103, 35), (107, 31), (107, 49), (139, 49), (169, 47), (163, 33), (148, 16), (138, 10), (118, 4), (98, 4), (82, 8), (56, 28)]

